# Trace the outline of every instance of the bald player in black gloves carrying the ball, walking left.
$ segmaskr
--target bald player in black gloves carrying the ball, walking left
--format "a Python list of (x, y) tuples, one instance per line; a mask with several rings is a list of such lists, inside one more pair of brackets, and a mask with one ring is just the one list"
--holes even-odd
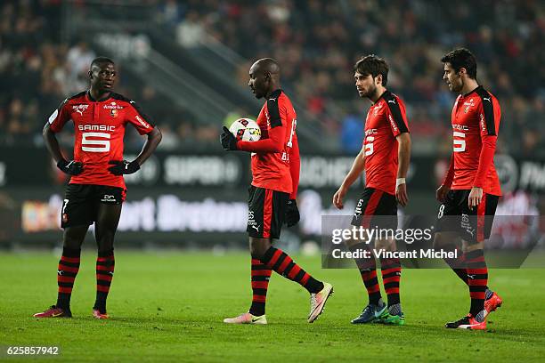
[(305, 272), (288, 254), (273, 246), (280, 238), (281, 226), (299, 221), (296, 197), (299, 182), (297, 115), (288, 96), (281, 90), (280, 67), (270, 58), (257, 60), (249, 69), (248, 85), (264, 105), (257, 117), (259, 141), (237, 141), (224, 127), (221, 141), (226, 150), (252, 153), (253, 180), (248, 198), (248, 235), (251, 253), (252, 304), (248, 312), (230, 324), (266, 324), (265, 298), (272, 271), (304, 286), (311, 294), (308, 322), (321, 314), (333, 286)]

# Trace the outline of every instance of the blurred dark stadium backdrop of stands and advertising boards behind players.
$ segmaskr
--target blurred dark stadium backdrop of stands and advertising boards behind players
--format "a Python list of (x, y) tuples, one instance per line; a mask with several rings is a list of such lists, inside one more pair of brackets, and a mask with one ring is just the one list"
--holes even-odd
[[(158, 152), (126, 177), (117, 246), (247, 246), (249, 157), (224, 153), (218, 137), (222, 125), (256, 117), (261, 101), (248, 91), (248, 68), (262, 57), (279, 60), (298, 115), (302, 221), (282, 232), (290, 249), (319, 242), (321, 214), (334, 212), (331, 197), (361, 147), (370, 103), (358, 98), (352, 67), (368, 53), (386, 58), (388, 88), (407, 104), (413, 149), (405, 213), (436, 213), (454, 101), (440, 58), (464, 45), (476, 54), (478, 81), (501, 104), (499, 211), (542, 214), (544, 35), (540, 1), (4, 0), (0, 247), (61, 245), (66, 179), (41, 130), (65, 97), (85, 89), (97, 55), (117, 61), (116, 91), (139, 102), (163, 132)], [(70, 150), (71, 133), (61, 135)], [(141, 146), (129, 130), (126, 158)]]

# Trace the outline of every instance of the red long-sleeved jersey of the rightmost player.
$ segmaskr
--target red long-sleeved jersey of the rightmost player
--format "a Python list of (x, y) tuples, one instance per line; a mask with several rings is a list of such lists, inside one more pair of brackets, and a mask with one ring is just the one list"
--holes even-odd
[[(501, 195), (500, 180), (493, 163), (493, 153), (500, 129), (500, 103), (483, 86), (461, 95), (451, 114), (454, 174), (452, 190), (483, 188), (484, 193)], [(484, 150), (484, 148), (487, 148)], [(479, 171), (481, 151), (492, 154), (487, 170)]]

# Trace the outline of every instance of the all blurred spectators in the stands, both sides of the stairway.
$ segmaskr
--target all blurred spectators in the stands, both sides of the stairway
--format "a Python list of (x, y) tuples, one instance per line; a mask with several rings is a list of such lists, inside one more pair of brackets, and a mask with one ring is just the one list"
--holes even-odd
[[(361, 147), (367, 107), (354, 90), (353, 64), (374, 52), (390, 64), (388, 88), (408, 105), (422, 152), (450, 148), (453, 95), (442, 80), (444, 52), (463, 44), (476, 53), (477, 78), (502, 106), (501, 151), (545, 154), (545, 6), (532, 0), (142, 1), (153, 19), (186, 47), (221, 42), (247, 59), (237, 75), (248, 82), (251, 60), (281, 62), (283, 85), (312, 115), (305, 119), (339, 149)], [(66, 95), (85, 88), (94, 51), (61, 41), (60, 1), (0, 5), (0, 141), (39, 143), (45, 119)], [(160, 107), (155, 90), (117, 88), (142, 103), (165, 131), (165, 145), (217, 142), (215, 125), (197, 125), (183, 109)], [(420, 138), (420, 139), (418, 139)]]

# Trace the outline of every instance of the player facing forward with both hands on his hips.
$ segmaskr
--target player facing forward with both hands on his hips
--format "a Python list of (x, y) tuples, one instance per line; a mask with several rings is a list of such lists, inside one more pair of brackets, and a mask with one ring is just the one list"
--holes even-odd
[[(69, 318), (70, 296), (79, 270), (81, 245), (89, 225), (94, 223), (98, 246), (96, 300), (93, 316), (108, 319), (106, 299), (114, 273), (114, 235), (121, 206), (126, 197), (123, 174), (135, 173), (161, 141), (159, 129), (134, 101), (112, 92), (117, 72), (113, 60), (99, 57), (89, 69), (88, 91), (67, 98), (55, 109), (44, 127), (45, 145), (62, 172), (69, 174), (61, 210), (63, 248), (57, 269), (57, 303), (37, 318)], [(75, 144), (72, 160), (62, 155), (55, 136), (71, 120)], [(128, 162), (123, 160), (126, 125), (147, 136), (142, 151)]]

